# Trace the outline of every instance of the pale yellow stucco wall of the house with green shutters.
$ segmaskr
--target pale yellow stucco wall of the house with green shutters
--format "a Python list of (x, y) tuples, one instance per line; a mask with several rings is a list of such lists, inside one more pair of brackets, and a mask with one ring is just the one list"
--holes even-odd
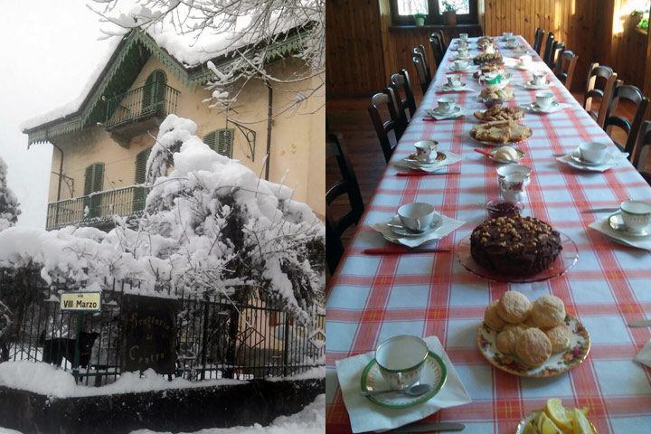
[[(288, 59), (269, 66), (275, 76), (295, 78), (302, 71), (300, 61)], [(209, 90), (197, 86), (186, 87), (173, 73), (151, 56), (137, 76), (131, 90), (143, 86), (151, 72), (163, 70), (167, 85), (179, 90), (175, 114), (191, 118), (197, 124), (197, 136), (203, 137), (215, 129), (226, 127), (227, 114), (222, 109), (210, 109), (203, 102), (210, 96)], [(279, 182), (287, 169), (289, 175), (285, 184), (296, 187), (295, 200), (306, 202), (323, 218), (325, 214), (325, 94), (319, 90), (301, 102), (297, 108), (287, 110), (298, 90), (316, 88), (322, 77), (310, 78), (297, 83), (271, 83), (273, 92), (274, 121), (271, 131), (271, 154), (269, 157), (269, 180)], [(323, 87), (325, 89), (325, 87)], [(261, 80), (250, 80), (242, 90), (228, 117), (256, 131), (255, 159), (250, 158), (250, 149), (241, 131), (235, 128), (233, 144), (234, 159), (239, 159), (257, 174), (262, 172), (262, 160), (267, 152), (268, 88)], [(232, 124), (229, 127), (233, 127)], [(157, 130), (151, 131), (156, 137)], [(63, 174), (71, 177), (71, 183), (61, 186), (61, 199), (83, 195), (84, 174), (88, 165), (104, 163), (104, 190), (134, 184), (136, 156), (153, 146), (154, 139), (144, 134), (133, 137), (128, 148), (119, 146), (104, 127), (89, 127), (84, 131), (56, 139), (55, 144), (65, 153)], [(52, 171), (58, 173), (60, 153), (54, 151)], [(262, 172), (264, 175), (264, 173)], [(57, 197), (58, 177), (52, 175), (49, 202)]]

